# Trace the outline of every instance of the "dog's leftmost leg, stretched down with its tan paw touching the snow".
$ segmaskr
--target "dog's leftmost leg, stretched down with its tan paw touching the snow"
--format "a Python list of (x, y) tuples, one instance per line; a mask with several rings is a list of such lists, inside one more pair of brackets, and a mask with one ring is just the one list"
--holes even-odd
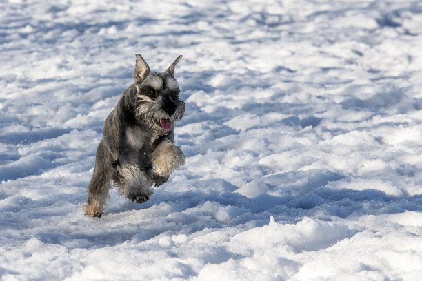
[(100, 218), (106, 207), (106, 200), (110, 198), (108, 190), (111, 187), (112, 163), (103, 141), (97, 148), (95, 156), (94, 174), (88, 185), (88, 202), (85, 205), (85, 214)]

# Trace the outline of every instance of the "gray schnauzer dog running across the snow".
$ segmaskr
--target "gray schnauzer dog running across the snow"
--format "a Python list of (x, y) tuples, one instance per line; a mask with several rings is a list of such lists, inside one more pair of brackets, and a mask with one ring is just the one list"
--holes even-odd
[(121, 94), (104, 124), (88, 185), (87, 216), (101, 217), (112, 183), (121, 195), (143, 203), (150, 199), (152, 185), (162, 185), (185, 163), (174, 145), (174, 122), (185, 114), (174, 79), (182, 56), (162, 73), (151, 72), (142, 56), (136, 56), (134, 84)]

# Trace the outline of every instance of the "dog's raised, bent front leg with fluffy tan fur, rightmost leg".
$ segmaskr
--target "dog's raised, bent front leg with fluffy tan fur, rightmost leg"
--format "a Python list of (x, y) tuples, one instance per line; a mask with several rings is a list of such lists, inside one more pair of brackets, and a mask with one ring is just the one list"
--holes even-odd
[(179, 147), (174, 145), (171, 135), (161, 140), (152, 152), (151, 158), (154, 167), (154, 183), (157, 187), (167, 182), (170, 174), (185, 164), (185, 155)]

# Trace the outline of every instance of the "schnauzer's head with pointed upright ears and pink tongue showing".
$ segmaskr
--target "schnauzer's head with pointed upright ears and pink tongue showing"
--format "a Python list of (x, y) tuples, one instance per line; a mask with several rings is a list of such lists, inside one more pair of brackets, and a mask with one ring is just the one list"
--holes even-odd
[(174, 122), (185, 114), (185, 103), (179, 99), (179, 84), (174, 79), (174, 67), (179, 56), (165, 72), (151, 72), (139, 54), (134, 71), (137, 87), (136, 114), (154, 132), (165, 134), (174, 129)]

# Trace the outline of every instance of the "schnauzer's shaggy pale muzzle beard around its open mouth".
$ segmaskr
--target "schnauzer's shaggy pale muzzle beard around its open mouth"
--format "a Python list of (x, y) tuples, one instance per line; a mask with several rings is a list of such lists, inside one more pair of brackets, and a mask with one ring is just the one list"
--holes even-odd
[[(174, 101), (171, 109), (166, 108), (163, 101), (156, 101), (148, 96), (138, 96), (136, 115), (141, 123), (146, 123), (159, 134), (167, 133), (173, 124), (180, 121), (185, 114), (185, 103), (181, 100)], [(169, 114), (169, 112), (173, 112)]]

